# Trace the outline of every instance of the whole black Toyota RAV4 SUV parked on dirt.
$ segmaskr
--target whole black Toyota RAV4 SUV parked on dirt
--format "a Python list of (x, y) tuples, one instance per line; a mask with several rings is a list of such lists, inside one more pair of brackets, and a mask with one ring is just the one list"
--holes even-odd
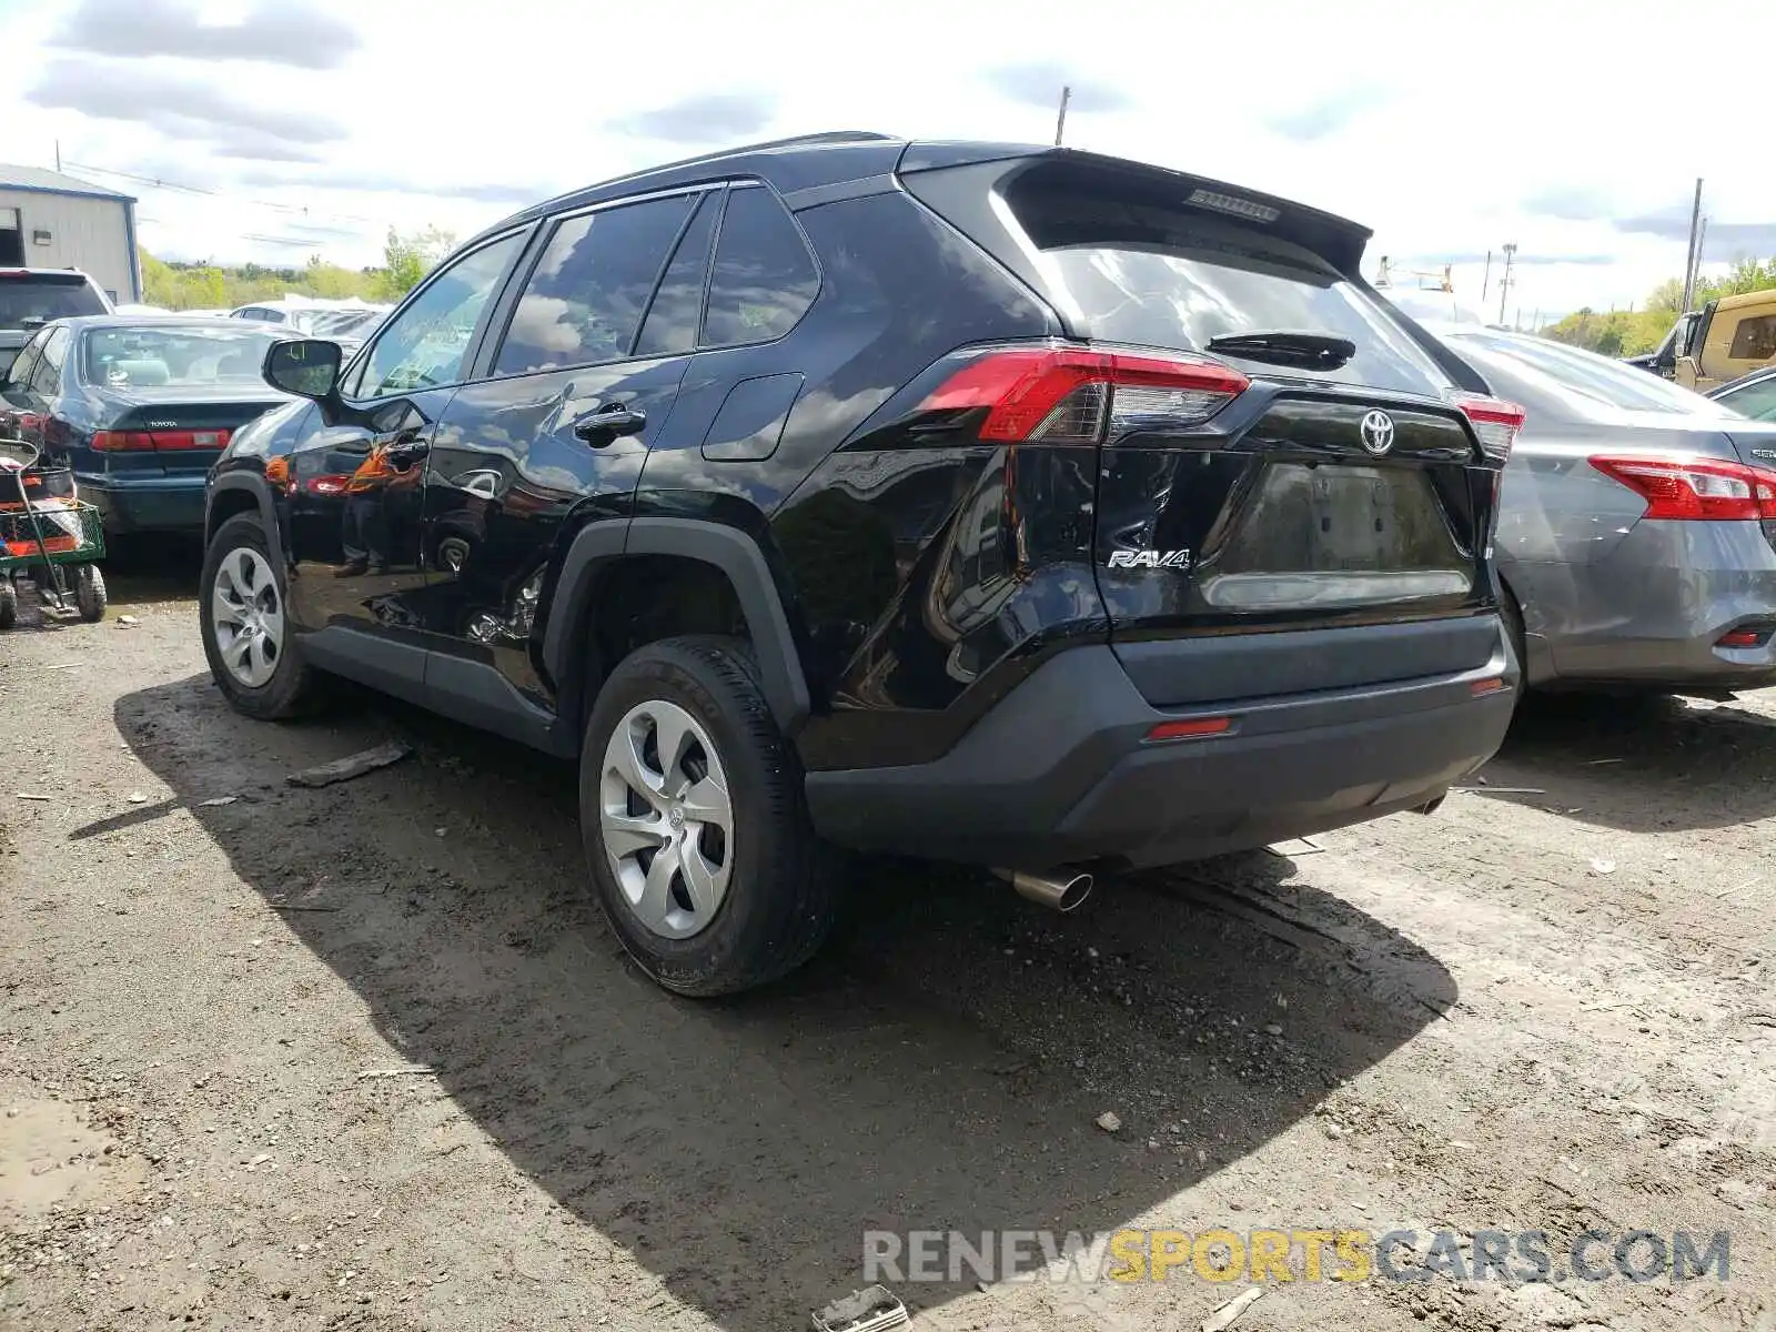
[(1115, 158), (817, 135), (529, 208), (211, 474), (242, 712), (332, 673), (579, 757), (689, 995), (806, 959), (831, 847), (1034, 895), (1430, 808), (1499, 744), (1522, 416), (1368, 231)]

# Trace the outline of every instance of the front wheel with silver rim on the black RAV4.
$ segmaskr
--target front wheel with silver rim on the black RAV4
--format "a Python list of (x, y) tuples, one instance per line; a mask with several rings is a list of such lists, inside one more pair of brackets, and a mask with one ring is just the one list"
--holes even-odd
[[(247, 607), (252, 614), (238, 618), (238, 627), (224, 623), (224, 609)], [(231, 636), (224, 639), (226, 630)], [(284, 614), (284, 574), (272, 558), (265, 527), (250, 513), (238, 513), (217, 527), (204, 551), (197, 632), (210, 677), (234, 710), (279, 721), (313, 703), (316, 673), (302, 661), (302, 646)]]

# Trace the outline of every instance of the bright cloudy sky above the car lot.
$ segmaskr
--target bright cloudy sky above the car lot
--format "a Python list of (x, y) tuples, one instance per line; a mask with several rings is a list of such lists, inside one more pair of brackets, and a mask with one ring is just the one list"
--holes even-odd
[(355, 266), (746, 140), (1043, 142), (1071, 83), (1069, 146), (1353, 217), (1371, 275), (1455, 261), (1478, 305), (1515, 242), (1527, 320), (1677, 275), (1696, 176), (1710, 263), (1776, 254), (1776, 103), (1732, 73), (1772, 36), (1767, 0), (0, 0), (0, 158), (59, 140), (165, 258)]

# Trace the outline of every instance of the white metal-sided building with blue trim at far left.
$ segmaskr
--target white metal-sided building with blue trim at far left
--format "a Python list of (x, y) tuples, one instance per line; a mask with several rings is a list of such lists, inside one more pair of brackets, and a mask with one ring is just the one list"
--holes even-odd
[(80, 268), (114, 302), (140, 300), (135, 199), (57, 170), (0, 163), (0, 268)]

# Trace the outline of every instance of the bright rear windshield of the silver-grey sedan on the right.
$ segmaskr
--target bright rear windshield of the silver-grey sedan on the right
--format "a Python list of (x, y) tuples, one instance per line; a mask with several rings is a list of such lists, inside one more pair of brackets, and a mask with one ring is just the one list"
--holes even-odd
[(1456, 355), (1471, 359), (1502, 396), (1517, 396), (1524, 407), (1540, 408), (1559, 419), (1586, 419), (1600, 412), (1661, 412), (1664, 416), (1707, 416), (1724, 412), (1689, 389), (1682, 389), (1645, 369), (1593, 355), (1577, 346), (1545, 337), (1463, 332), (1449, 337)]

